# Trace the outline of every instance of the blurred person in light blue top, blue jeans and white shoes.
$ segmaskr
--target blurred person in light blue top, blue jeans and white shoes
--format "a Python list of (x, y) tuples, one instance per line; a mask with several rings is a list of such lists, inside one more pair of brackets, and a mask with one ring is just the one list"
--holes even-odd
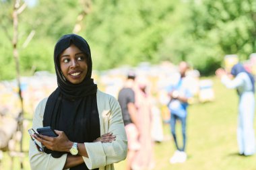
[[(188, 88), (188, 82), (186, 81), (186, 72), (189, 69), (189, 64), (185, 61), (179, 64), (179, 81), (174, 85), (168, 87), (168, 95), (170, 96), (170, 102), (168, 103), (168, 109), (170, 111), (170, 128), (172, 137), (174, 139), (177, 151), (170, 158), (170, 163), (184, 163), (187, 160), (187, 154), (185, 153), (185, 146), (187, 142), (187, 106), (188, 100), (192, 97)], [(179, 146), (176, 134), (177, 121), (181, 122), (183, 145)]]

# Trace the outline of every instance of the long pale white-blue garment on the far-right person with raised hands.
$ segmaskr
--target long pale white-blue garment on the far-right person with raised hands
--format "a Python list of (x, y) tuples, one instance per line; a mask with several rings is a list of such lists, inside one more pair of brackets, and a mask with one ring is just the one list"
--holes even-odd
[(237, 140), (239, 153), (253, 155), (255, 153), (255, 131), (253, 120), (255, 114), (255, 96), (252, 83), (247, 73), (239, 73), (233, 80), (222, 77), (222, 83), (230, 89), (238, 89), (238, 129)]

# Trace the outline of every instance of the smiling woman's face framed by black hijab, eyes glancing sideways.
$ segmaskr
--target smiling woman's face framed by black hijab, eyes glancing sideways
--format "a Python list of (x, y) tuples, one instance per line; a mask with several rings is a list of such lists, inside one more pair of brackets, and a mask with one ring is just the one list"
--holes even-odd
[(73, 84), (81, 83), (88, 71), (87, 57), (79, 48), (71, 44), (59, 56), (61, 72)]

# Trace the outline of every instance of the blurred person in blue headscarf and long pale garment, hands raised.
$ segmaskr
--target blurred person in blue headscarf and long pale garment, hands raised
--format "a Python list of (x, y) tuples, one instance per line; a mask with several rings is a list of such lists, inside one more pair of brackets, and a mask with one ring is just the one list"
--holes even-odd
[(255, 79), (241, 63), (234, 65), (231, 73), (218, 69), (216, 75), (228, 89), (236, 89), (238, 103), (237, 140), (240, 155), (255, 153), (255, 132), (253, 128), (255, 112)]

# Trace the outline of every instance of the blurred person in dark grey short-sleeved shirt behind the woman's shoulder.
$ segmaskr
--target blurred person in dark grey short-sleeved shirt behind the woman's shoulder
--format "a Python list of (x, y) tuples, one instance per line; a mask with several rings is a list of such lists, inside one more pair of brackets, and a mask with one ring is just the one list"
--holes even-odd
[(130, 71), (124, 87), (119, 91), (118, 101), (123, 114), (123, 122), (128, 140), (128, 153), (126, 169), (132, 169), (135, 153), (141, 147), (139, 144), (139, 122), (137, 121), (137, 108), (135, 106), (135, 73)]

